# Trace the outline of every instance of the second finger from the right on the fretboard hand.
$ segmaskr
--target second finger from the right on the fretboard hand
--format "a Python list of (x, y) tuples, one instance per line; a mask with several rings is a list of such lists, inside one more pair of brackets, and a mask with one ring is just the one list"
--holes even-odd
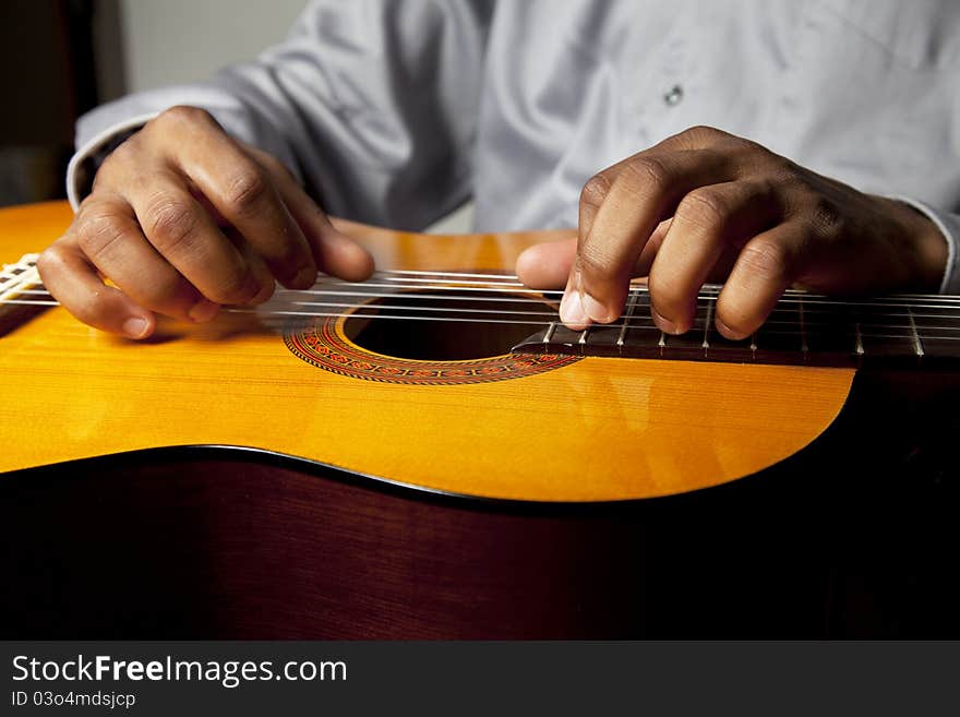
[(684, 196), (650, 267), (650, 313), (657, 326), (668, 334), (688, 331), (700, 287), (724, 249), (743, 246), (778, 215), (764, 182), (724, 182)]

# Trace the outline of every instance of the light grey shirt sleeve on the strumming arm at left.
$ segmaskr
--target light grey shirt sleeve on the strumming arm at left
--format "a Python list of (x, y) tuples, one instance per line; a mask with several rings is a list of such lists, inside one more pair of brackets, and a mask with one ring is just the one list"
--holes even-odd
[(254, 61), (83, 116), (67, 177), (71, 203), (118, 139), (191, 105), (284, 162), (327, 212), (420, 229), (472, 191), (491, 4), (315, 0)]

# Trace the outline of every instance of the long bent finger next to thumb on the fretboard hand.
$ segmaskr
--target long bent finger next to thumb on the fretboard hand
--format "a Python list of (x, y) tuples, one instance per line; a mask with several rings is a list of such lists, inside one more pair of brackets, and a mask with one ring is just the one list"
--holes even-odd
[(597, 205), (589, 232), (580, 234), (571, 288), (578, 294), (563, 318), (571, 327), (620, 315), (636, 266), (657, 225), (672, 214), (682, 196), (697, 187), (730, 178), (729, 163), (711, 151), (637, 155), (611, 181), (601, 172), (584, 188), (584, 204)]

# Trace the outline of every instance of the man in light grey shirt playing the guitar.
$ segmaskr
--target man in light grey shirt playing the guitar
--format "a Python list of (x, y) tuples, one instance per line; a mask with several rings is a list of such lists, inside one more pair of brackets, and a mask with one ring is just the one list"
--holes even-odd
[(257, 61), (83, 118), (77, 215), (38, 266), (143, 338), (368, 275), (321, 206), (421, 228), (472, 195), (480, 229), (578, 225), (517, 266), (566, 287), (569, 326), (649, 275), (669, 333), (725, 280), (742, 338), (791, 285), (957, 292), (957, 76), (949, 0), (316, 1)]

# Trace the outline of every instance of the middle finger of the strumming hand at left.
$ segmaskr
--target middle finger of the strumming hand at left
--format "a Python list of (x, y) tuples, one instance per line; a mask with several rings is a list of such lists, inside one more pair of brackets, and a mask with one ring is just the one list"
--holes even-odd
[(251, 272), (240, 250), (172, 172), (157, 172), (130, 190), (144, 236), (207, 299), (244, 304), (273, 290)]

